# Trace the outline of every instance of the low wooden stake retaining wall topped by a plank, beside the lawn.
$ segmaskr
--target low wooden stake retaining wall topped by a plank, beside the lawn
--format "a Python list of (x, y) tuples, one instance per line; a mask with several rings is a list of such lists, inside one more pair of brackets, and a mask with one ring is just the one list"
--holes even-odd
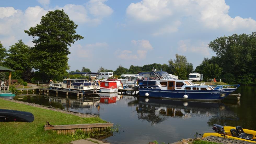
[(107, 127), (113, 127), (113, 123), (50, 125), (46, 122), (44, 130), (53, 130), (57, 134), (71, 135), (74, 134), (77, 129), (81, 129), (85, 133), (91, 133), (103, 132)]

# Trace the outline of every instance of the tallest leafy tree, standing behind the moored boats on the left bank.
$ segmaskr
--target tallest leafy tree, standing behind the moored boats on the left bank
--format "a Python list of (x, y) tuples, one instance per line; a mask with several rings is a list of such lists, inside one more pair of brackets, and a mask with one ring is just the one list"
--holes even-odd
[(65, 74), (70, 54), (68, 46), (83, 39), (76, 34), (77, 26), (63, 10), (55, 10), (42, 16), (40, 24), (25, 30), (33, 37), (32, 56), (37, 70), (50, 77)]

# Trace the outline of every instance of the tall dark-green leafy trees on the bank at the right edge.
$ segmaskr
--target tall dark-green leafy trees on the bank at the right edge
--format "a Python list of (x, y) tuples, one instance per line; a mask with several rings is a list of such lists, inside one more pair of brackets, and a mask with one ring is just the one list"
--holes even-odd
[(223, 68), (222, 77), (232, 76), (240, 84), (256, 84), (255, 47), (256, 32), (223, 36), (209, 43), (217, 55), (212, 61)]

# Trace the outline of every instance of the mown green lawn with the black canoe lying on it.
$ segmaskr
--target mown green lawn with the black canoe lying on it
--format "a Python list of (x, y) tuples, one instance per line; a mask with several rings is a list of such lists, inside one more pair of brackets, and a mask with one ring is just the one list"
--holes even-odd
[(0, 99), (0, 109), (12, 109), (31, 112), (34, 121), (27, 122), (0, 122), (0, 144), (8, 143), (69, 143), (71, 136), (57, 135), (44, 131), (44, 124), (48, 121), (53, 125), (106, 123), (99, 117), (81, 118), (63, 114), (52, 110), (41, 109), (29, 105), (14, 103)]

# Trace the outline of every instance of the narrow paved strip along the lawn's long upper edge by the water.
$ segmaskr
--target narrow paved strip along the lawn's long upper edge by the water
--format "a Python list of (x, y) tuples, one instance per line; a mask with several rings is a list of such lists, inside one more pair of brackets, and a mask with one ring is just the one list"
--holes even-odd
[(53, 111), (57, 111), (57, 112), (62, 112), (62, 113), (65, 113), (65, 114), (71, 114), (71, 115), (75, 115), (75, 116), (79, 116), (79, 117), (95, 117), (94, 115), (76, 113), (76, 112), (71, 112), (71, 111), (67, 111), (67, 110), (63, 110), (63, 109), (57, 109), (57, 108), (50, 108), (50, 107), (46, 107), (46, 106), (43, 106), (43, 105), (17, 101), (17, 100), (14, 100), (14, 99), (7, 99), (7, 98), (0, 98), (0, 99), (10, 101), (10, 102), (20, 103), (20, 104), (26, 104), (26, 105), (30, 105), (32, 107), (38, 107), (38, 108), (41, 108), (41, 109), (48, 109), (48, 110), (53, 110)]

